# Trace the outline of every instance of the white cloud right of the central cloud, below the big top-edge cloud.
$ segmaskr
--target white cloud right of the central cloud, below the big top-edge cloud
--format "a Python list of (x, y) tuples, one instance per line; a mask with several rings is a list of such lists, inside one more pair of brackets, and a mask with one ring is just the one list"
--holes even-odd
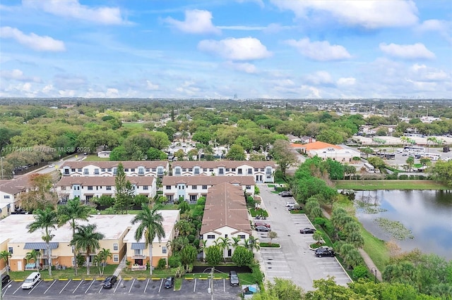
[(308, 38), (304, 38), (298, 41), (288, 39), (285, 42), (314, 61), (340, 61), (352, 57), (343, 46), (331, 45), (328, 41), (311, 42)]

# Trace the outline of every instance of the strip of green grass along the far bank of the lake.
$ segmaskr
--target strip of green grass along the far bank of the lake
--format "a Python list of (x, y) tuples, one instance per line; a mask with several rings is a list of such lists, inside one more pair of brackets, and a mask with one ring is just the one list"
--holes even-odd
[(335, 180), (333, 183), (336, 189), (354, 189), (359, 191), (374, 191), (376, 189), (452, 189), (452, 187), (433, 180)]

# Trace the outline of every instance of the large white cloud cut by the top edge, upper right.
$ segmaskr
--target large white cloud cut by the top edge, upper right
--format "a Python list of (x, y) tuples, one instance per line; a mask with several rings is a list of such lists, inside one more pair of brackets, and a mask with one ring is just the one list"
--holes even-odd
[(297, 18), (334, 18), (339, 23), (369, 29), (403, 27), (417, 23), (417, 7), (413, 1), (287, 1), (272, 0), (283, 10), (290, 10)]

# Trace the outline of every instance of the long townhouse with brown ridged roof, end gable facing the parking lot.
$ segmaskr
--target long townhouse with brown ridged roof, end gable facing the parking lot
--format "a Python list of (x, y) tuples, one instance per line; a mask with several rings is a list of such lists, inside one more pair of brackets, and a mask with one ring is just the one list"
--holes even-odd
[[(246, 199), (241, 187), (229, 182), (222, 182), (211, 187), (206, 196), (203, 224), (200, 239), (204, 241), (204, 248), (212, 246), (220, 237), (232, 242), (238, 238), (244, 244), (249, 239), (251, 224), (246, 209)], [(223, 250), (223, 257), (231, 257), (234, 246), (227, 246)], [(206, 258), (206, 254), (203, 253)]]

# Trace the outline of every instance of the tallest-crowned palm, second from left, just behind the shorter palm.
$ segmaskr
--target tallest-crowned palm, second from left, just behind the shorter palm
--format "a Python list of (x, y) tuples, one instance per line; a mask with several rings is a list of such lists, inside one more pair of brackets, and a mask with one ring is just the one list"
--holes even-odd
[[(62, 205), (58, 207), (58, 226), (63, 226), (64, 224), (69, 222), (69, 225), (72, 228), (72, 238), (76, 234), (77, 223), (76, 220), (88, 220), (90, 218), (90, 210), (89, 206), (85, 206), (81, 203), (78, 197), (71, 199), (67, 202), (66, 205)], [(74, 274), (77, 275), (77, 251), (73, 251), (73, 270)]]

